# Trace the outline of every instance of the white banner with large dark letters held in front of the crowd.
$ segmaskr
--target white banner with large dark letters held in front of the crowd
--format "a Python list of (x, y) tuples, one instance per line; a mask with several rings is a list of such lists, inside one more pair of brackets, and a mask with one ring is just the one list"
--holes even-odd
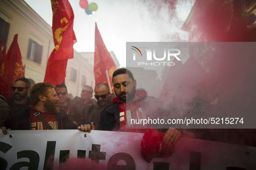
[[(84, 137), (84, 135), (87, 135)], [(255, 170), (256, 148), (181, 137), (167, 158), (146, 162), (143, 133), (94, 130), (0, 132), (1, 170)]]

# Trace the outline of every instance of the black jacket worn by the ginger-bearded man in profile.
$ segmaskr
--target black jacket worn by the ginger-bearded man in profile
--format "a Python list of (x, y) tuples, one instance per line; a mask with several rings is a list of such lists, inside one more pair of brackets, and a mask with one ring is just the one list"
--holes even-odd
[[(56, 113), (55, 116), (58, 122), (58, 129), (77, 129), (77, 126), (68, 119), (65, 111), (60, 110), (60, 113)], [(30, 130), (30, 110), (25, 109), (11, 113), (6, 119), (5, 127), (11, 130)]]

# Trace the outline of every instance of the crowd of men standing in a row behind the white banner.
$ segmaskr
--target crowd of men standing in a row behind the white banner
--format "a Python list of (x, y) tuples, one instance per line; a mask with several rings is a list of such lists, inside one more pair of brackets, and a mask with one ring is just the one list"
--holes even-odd
[[(145, 132), (146, 129), (137, 126), (126, 128), (126, 125), (130, 126), (129, 117), (139, 119), (139, 116), (165, 114), (164, 109), (159, 110), (164, 108), (159, 99), (149, 97), (145, 90), (136, 90), (136, 80), (130, 70), (117, 69), (112, 81), (114, 94), (111, 94), (107, 83), (100, 82), (94, 90), (91, 86), (84, 86), (81, 97), (70, 99), (65, 84), (54, 87), (50, 83), (40, 82), (31, 87), (28, 79), (19, 78), (11, 87), (13, 97), (7, 102), (3, 96), (0, 97), (3, 110), (1, 129), (4, 134), (7, 134), (7, 130), (43, 129)], [(139, 108), (145, 110), (139, 111), (142, 115), (138, 114)], [(175, 143), (181, 136), (181, 132), (172, 127), (165, 129), (165, 132), (164, 141), (167, 144)]]

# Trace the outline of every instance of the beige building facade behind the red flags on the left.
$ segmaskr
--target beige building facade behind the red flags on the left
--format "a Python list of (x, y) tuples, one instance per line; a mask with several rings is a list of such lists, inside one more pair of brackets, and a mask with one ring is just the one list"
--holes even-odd
[[(35, 83), (43, 82), (48, 58), (55, 47), (52, 38), (52, 27), (23, 0), (0, 0), (0, 18), (10, 23), (6, 43), (7, 50), (13, 41), (14, 35), (18, 34), (23, 65), (26, 64), (25, 77), (32, 79)], [(42, 46), (40, 64), (27, 59), (29, 39)], [(75, 82), (71, 81), (71, 69), (77, 72)], [(73, 97), (80, 97), (83, 87), (82, 77), (86, 77), (86, 85), (94, 87), (93, 66), (74, 50), (74, 58), (68, 60), (65, 79), (68, 93), (72, 94)]]

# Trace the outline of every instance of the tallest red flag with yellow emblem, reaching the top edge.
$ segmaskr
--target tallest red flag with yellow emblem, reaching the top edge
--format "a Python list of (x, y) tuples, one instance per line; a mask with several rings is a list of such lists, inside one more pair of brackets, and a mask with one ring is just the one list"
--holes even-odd
[(62, 84), (66, 77), (68, 59), (73, 58), (73, 44), (76, 42), (73, 31), (74, 13), (68, 0), (51, 0), (52, 34), (55, 48), (47, 63), (44, 82)]

